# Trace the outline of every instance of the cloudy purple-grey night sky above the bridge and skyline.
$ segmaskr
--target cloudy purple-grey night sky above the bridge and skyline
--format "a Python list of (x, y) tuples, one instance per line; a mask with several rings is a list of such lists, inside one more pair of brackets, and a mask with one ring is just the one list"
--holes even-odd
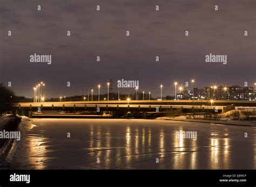
[[(97, 94), (99, 83), (103, 93), (109, 78), (113, 91), (124, 78), (138, 80), (139, 91), (153, 96), (160, 95), (160, 84), (163, 96), (174, 95), (173, 82), (184, 85), (191, 78), (198, 88), (252, 85), (255, 12), (255, 0), (0, 0), (0, 82), (10, 81), (26, 97), (41, 81), (47, 97), (83, 95), (88, 88)], [(52, 55), (52, 63), (31, 63), (35, 53)], [(206, 63), (210, 53), (227, 55), (227, 64)]]

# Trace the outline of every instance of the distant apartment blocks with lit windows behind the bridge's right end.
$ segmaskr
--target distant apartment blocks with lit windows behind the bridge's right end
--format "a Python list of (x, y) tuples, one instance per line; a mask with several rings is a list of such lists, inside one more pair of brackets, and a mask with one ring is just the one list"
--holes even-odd
[[(178, 100), (192, 100), (193, 89), (184, 89), (177, 93)], [(253, 87), (213, 86), (201, 89), (194, 88), (194, 100), (256, 100), (256, 90)]]

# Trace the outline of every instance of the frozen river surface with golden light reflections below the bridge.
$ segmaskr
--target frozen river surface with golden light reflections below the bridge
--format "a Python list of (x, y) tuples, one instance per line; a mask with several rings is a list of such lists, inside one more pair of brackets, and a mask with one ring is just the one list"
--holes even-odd
[(171, 120), (31, 119), (10, 168), (256, 169), (255, 132)]

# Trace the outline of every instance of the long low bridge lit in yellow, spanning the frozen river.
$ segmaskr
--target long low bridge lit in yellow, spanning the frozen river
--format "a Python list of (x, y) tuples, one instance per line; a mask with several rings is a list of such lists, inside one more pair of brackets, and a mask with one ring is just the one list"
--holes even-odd
[(76, 101), (76, 102), (44, 102), (17, 103), (16, 113), (32, 117), (39, 111), (96, 111), (103, 114), (106, 111), (114, 116), (122, 116), (132, 112), (145, 117), (147, 113), (220, 113), (235, 109), (235, 106), (255, 107), (256, 101), (246, 100), (109, 100), (109, 101)]

